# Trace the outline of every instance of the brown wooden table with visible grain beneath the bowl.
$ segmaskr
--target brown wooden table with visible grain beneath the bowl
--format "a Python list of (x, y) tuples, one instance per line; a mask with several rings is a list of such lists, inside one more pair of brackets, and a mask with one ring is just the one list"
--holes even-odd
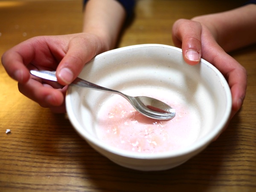
[[(242, 2), (140, 0), (118, 46), (173, 45), (171, 29), (178, 18), (225, 11)], [(1, 0), (0, 18), (2, 55), (33, 36), (81, 32), (81, 0)], [(0, 66), (0, 191), (256, 191), (256, 46), (231, 55), (248, 71), (241, 111), (201, 154), (160, 172), (112, 163), (79, 137), (64, 114), (52, 114), (21, 95)]]

